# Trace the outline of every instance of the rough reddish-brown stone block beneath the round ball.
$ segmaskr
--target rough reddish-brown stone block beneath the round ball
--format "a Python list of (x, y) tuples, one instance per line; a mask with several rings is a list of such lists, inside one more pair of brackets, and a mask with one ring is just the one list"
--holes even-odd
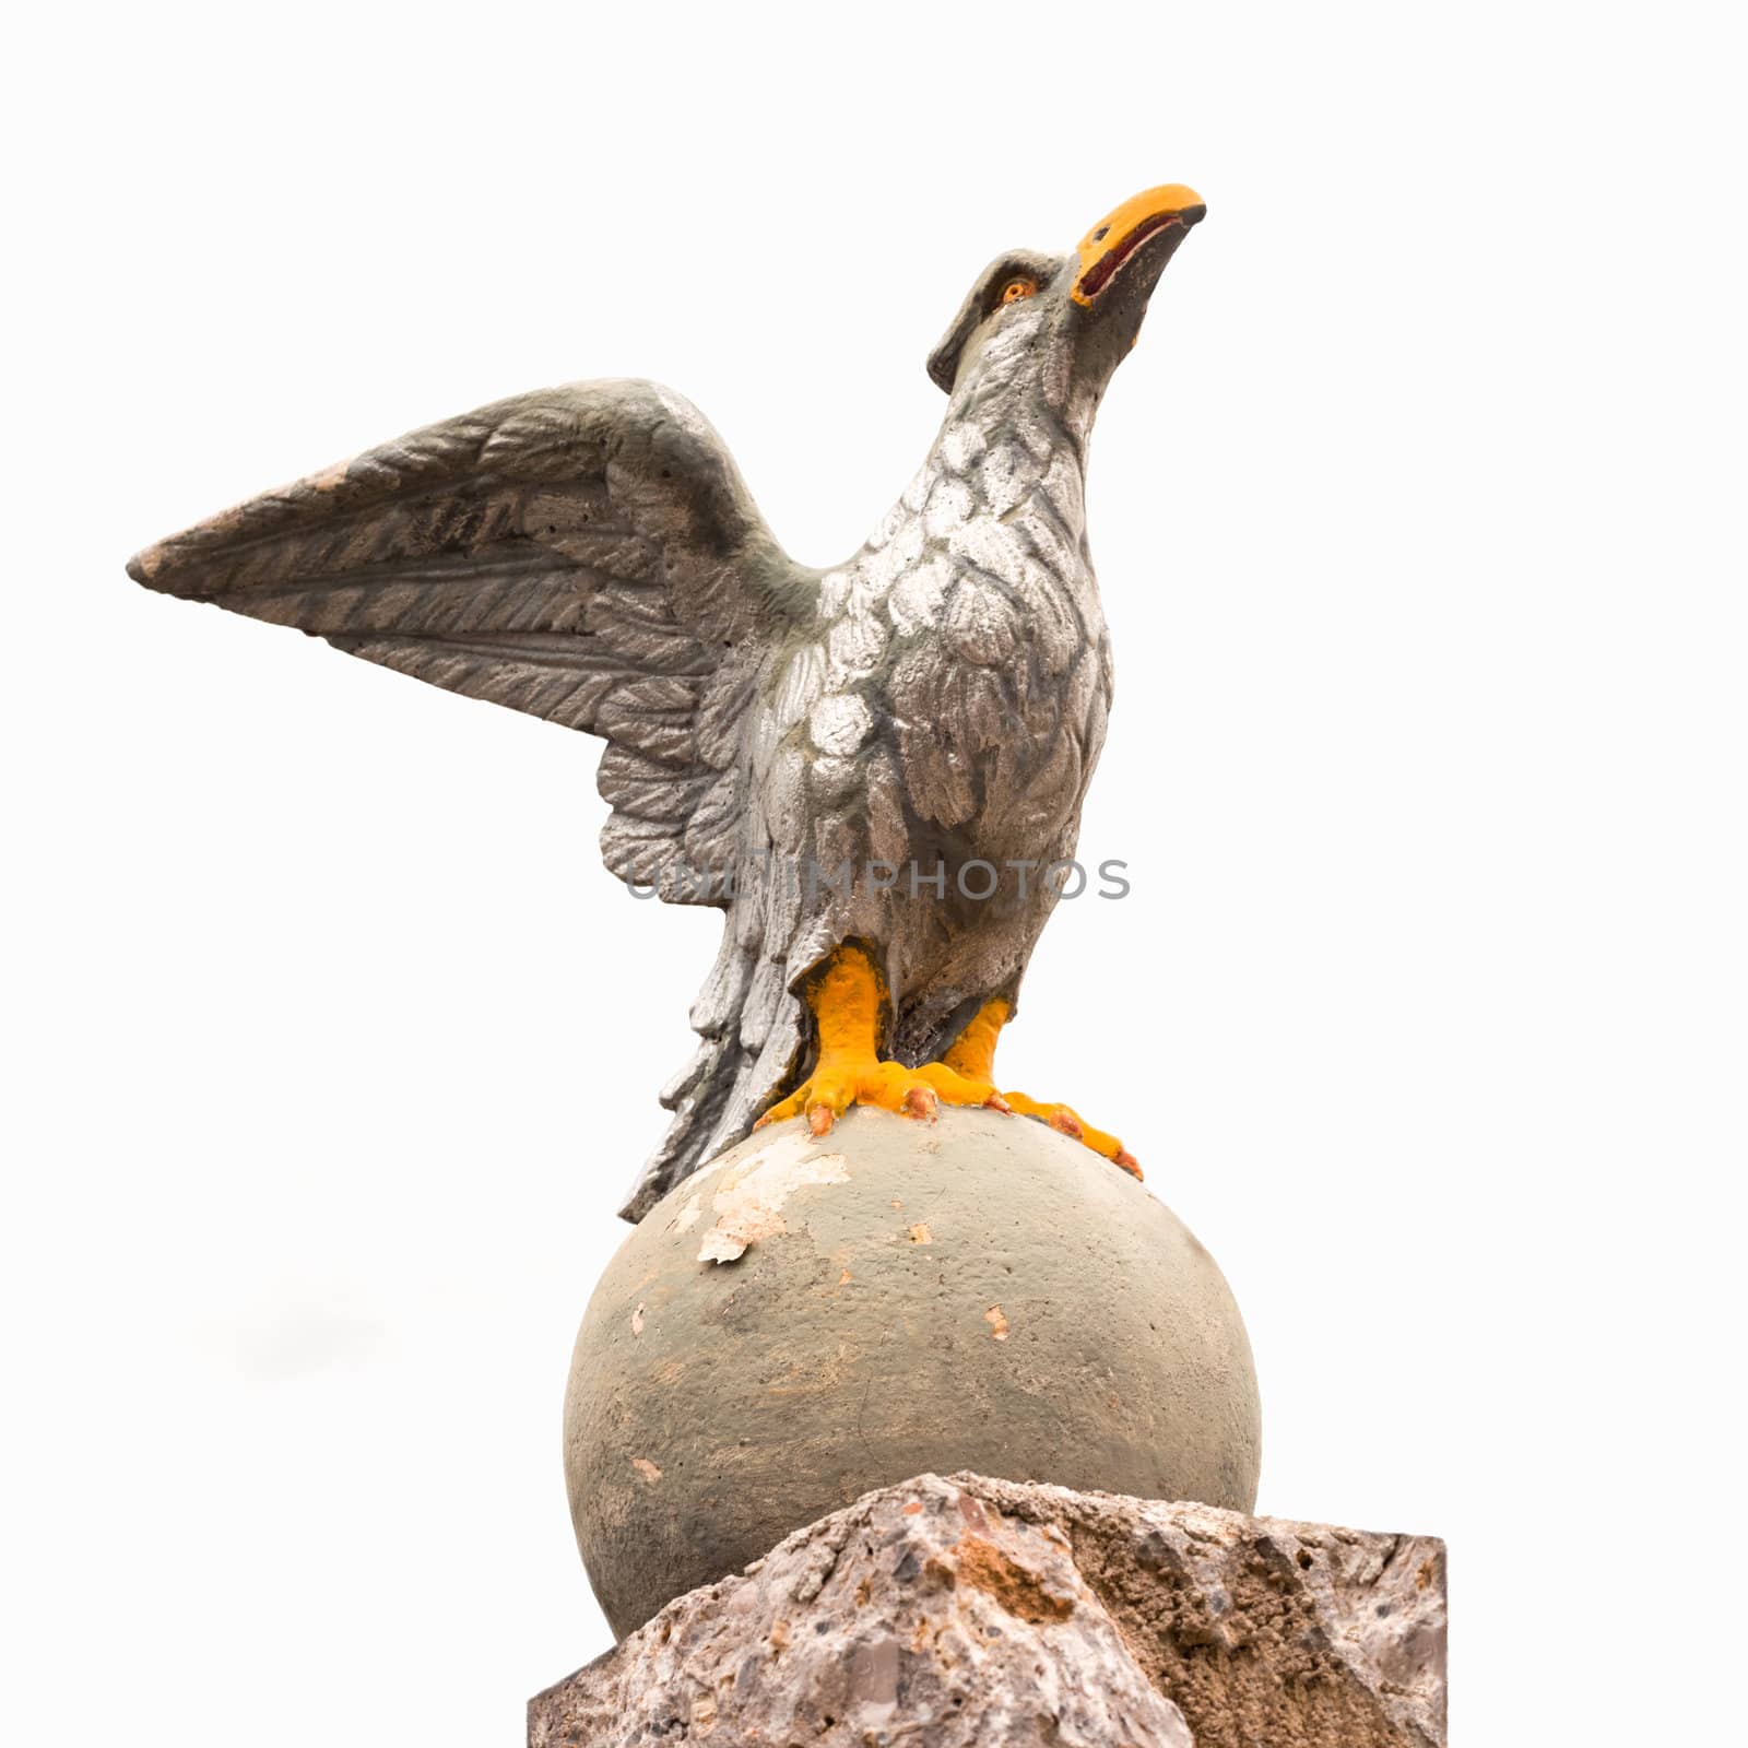
[(919, 1475), (537, 1696), (531, 1748), (1442, 1748), (1444, 1543)]

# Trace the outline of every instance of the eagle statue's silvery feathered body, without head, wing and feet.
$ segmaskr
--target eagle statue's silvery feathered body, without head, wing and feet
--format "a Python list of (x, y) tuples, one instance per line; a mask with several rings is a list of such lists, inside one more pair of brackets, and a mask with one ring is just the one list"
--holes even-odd
[[(664, 1094), (676, 1157), (738, 1140), (794, 1079), (799, 981), (836, 942), (876, 946), (891, 1052), (918, 1063), (1017, 991), (1058, 900), (1044, 869), (1073, 857), (1112, 666), (1084, 540), (1089, 407), (1024, 369), (1035, 325), (967, 372), (904, 496), (762, 666), (703, 1045)], [(699, 877), (650, 874), (668, 895)]]

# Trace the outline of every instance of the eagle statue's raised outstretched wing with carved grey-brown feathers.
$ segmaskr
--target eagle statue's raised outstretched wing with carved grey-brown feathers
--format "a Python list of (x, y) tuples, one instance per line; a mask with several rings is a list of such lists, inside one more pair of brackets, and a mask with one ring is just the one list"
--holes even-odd
[(638, 381), (427, 427), (149, 547), (128, 572), (605, 736), (607, 865), (673, 900), (706, 897), (699, 876), (734, 857), (741, 718), (813, 596), (722, 439)]

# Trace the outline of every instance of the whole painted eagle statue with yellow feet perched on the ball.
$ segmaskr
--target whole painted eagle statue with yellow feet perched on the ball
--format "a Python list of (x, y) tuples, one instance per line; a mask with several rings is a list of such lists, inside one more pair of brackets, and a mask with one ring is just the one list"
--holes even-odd
[(1054, 1124), (995, 1042), (1061, 895), (1105, 741), (1087, 437), (1204, 213), (1150, 189), (1068, 255), (1000, 255), (928, 374), (916, 477), (846, 563), (785, 556), (722, 439), (654, 383), (500, 400), (266, 493), (128, 570), (607, 739), (601, 853), (725, 911), (701, 1044), (638, 1220), (757, 1122), (937, 1101)]

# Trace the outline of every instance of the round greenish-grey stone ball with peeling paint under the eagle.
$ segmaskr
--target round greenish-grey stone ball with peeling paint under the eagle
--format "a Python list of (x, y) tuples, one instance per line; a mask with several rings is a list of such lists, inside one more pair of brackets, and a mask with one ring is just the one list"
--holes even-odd
[(1026, 1117), (762, 1129), (601, 1276), (565, 1400), (577, 1545), (622, 1638), (933, 1470), (1248, 1512), (1257, 1379), (1213, 1257)]

